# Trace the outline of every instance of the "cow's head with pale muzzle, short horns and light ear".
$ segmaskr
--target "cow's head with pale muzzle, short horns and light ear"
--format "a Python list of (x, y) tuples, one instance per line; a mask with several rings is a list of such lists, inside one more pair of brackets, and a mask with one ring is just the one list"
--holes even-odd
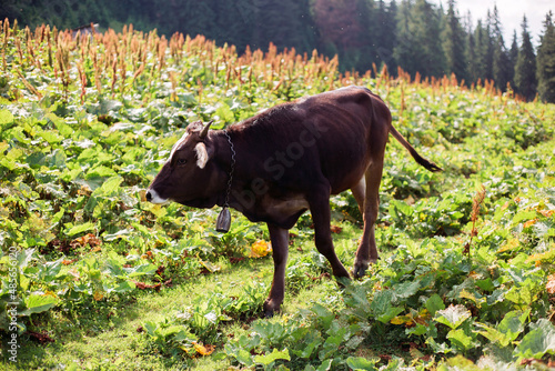
[(174, 201), (200, 208), (214, 205), (226, 176), (210, 161), (215, 150), (209, 137), (211, 123), (212, 121), (203, 126), (201, 121), (196, 121), (188, 127), (147, 190), (148, 201)]

